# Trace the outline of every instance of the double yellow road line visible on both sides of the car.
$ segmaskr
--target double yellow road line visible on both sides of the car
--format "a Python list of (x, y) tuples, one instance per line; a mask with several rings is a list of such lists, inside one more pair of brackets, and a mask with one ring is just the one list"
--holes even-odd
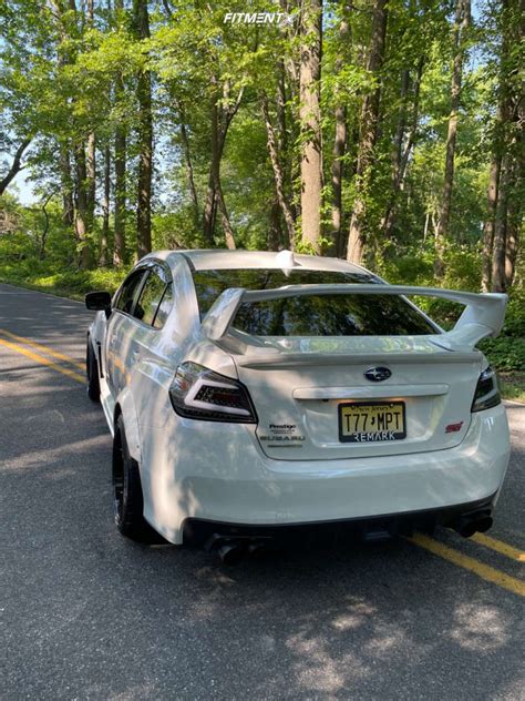
[[(81, 363), (78, 363), (73, 358), (64, 355), (63, 353), (59, 353), (58, 350), (53, 350), (49, 346), (44, 346), (40, 343), (35, 343), (30, 338), (25, 338), (24, 336), (18, 336), (9, 331), (0, 328), (0, 346), (4, 346), (16, 353), (20, 353), (25, 357), (34, 360), (35, 363), (40, 363), (47, 367), (50, 367), (62, 375), (66, 375), (71, 377), (78, 383), (82, 385), (85, 384), (84, 376), (84, 366)], [(38, 353), (37, 353), (38, 352)], [(43, 355), (42, 355), (43, 354)], [(49, 357), (45, 357), (49, 356)], [(59, 365), (54, 360), (50, 358), (54, 358), (55, 360), (61, 360), (61, 363), (66, 363), (66, 365)], [(82, 370), (82, 375), (76, 372), (76, 368)], [(476, 560), (473, 557), (464, 555), (450, 546), (446, 546), (434, 538), (429, 538), (429, 536), (423, 536), (422, 534), (415, 534), (412, 538), (408, 539), (410, 542), (419, 546), (420, 548), (424, 548), (429, 552), (436, 555), (449, 562), (456, 565), (457, 567), (462, 567), (466, 569), (481, 579), (485, 581), (490, 581), (498, 587), (503, 587), (504, 589), (512, 591), (515, 595), (521, 597), (525, 597), (525, 582), (516, 579), (515, 577), (511, 577), (505, 572), (502, 572), (488, 565), (484, 565), (480, 560)], [(495, 552), (503, 555), (515, 562), (525, 562), (525, 552), (522, 552), (517, 548), (503, 542), (502, 540), (497, 540), (496, 538), (492, 538), (491, 536), (485, 536), (484, 534), (476, 534), (471, 538), (471, 541)]]

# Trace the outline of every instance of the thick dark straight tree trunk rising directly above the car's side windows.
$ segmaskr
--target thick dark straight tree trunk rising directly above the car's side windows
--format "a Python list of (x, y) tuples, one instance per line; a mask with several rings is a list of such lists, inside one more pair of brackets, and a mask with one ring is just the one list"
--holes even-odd
[[(133, 12), (138, 39), (150, 38), (147, 0), (134, 0)], [(142, 258), (152, 250), (152, 175), (153, 175), (153, 116), (152, 75), (147, 68), (138, 74), (138, 174), (136, 203), (136, 253)]]

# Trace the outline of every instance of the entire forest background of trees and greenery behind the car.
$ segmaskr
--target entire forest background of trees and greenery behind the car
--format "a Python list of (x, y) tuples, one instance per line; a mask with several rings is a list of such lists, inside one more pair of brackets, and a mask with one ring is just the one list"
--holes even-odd
[(0, 280), (290, 248), (507, 292), (482, 347), (525, 399), (524, 29), (525, 0), (2, 0)]

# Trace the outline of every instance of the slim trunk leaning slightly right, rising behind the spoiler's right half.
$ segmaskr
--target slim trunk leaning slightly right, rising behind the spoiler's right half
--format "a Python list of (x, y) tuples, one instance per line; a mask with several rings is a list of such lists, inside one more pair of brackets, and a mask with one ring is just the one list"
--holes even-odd
[(463, 72), (463, 59), (465, 54), (465, 33), (471, 21), (470, 0), (456, 0), (454, 22), (454, 64), (452, 67), (451, 84), (451, 112), (449, 116), (449, 130), (446, 134), (445, 172), (443, 179), (443, 195), (441, 200), (441, 215), (435, 237), (435, 264), (434, 273), (442, 277), (444, 273), (445, 236), (449, 235), (452, 190), (454, 185), (454, 156), (457, 138), (457, 116), (460, 110), (461, 81)]

